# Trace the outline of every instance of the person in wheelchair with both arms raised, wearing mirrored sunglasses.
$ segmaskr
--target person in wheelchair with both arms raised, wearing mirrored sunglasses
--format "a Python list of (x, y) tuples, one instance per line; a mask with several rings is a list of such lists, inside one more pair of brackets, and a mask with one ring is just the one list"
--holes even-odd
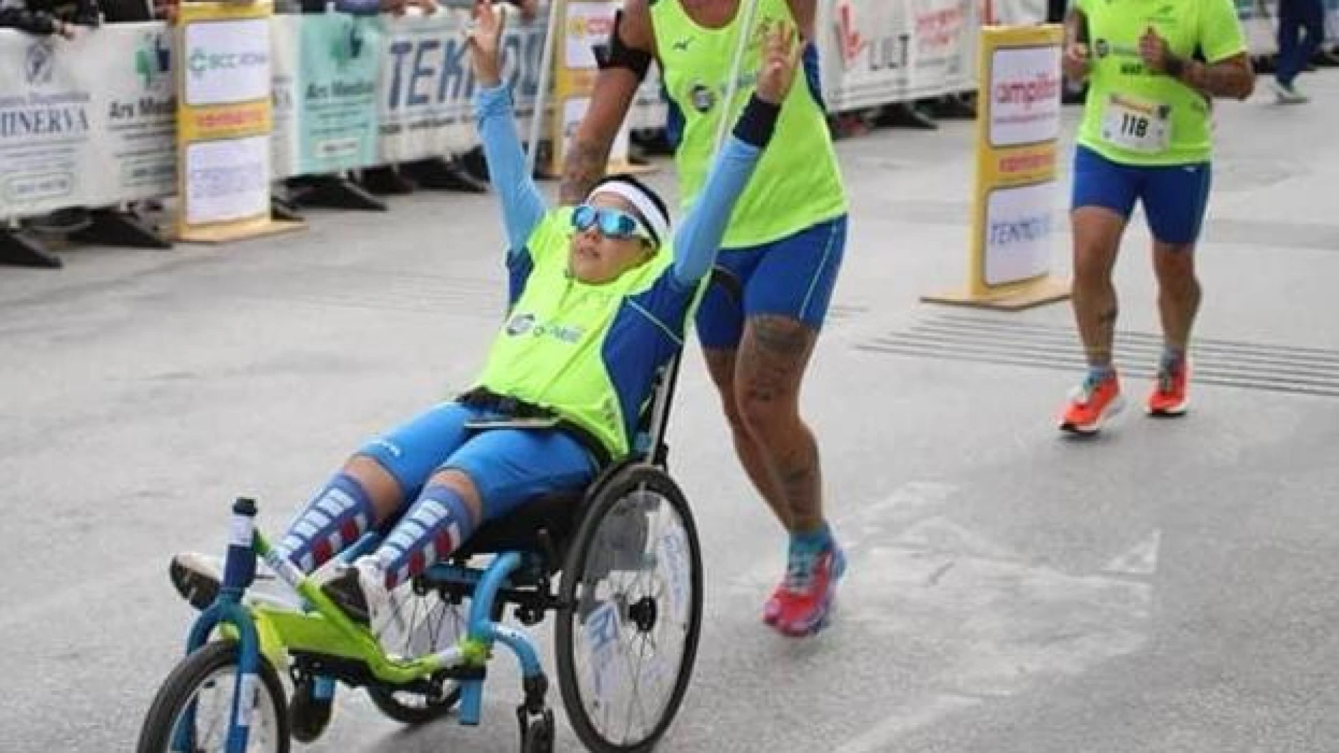
[[(277, 547), (312, 573), (403, 512), (376, 551), (351, 564), (336, 560), (317, 576), (374, 634), (390, 592), (445, 561), (482, 523), (542, 494), (580, 492), (603, 465), (629, 453), (656, 372), (683, 346), (798, 58), (794, 29), (769, 35), (757, 90), (671, 238), (664, 201), (631, 176), (607, 177), (578, 206), (545, 205), (501, 83), (503, 19), (487, 0), (474, 13), (475, 117), (507, 236), (507, 319), (473, 390), (356, 452)], [(193, 606), (213, 602), (217, 561), (181, 553), (170, 571)]]

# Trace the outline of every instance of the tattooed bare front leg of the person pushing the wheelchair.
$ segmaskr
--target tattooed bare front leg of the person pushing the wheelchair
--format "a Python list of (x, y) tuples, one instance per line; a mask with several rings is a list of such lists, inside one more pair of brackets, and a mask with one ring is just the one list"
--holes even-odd
[(823, 525), (818, 442), (799, 417), (799, 387), (817, 336), (785, 316), (754, 316), (735, 363), (739, 417), (779, 485), (793, 533)]

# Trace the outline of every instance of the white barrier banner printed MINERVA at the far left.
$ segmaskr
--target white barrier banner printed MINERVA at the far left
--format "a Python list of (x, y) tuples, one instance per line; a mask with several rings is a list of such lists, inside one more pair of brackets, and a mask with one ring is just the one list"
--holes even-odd
[(161, 24), (0, 31), (0, 218), (173, 193), (170, 51)]

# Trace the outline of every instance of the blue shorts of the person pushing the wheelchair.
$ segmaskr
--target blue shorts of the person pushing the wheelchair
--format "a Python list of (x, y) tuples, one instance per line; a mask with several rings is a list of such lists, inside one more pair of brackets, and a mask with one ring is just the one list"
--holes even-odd
[(703, 347), (734, 350), (744, 322), (759, 314), (821, 330), (845, 252), (845, 214), (771, 244), (722, 249), (716, 264), (739, 277), (743, 301), (719, 285), (707, 288), (698, 307), (698, 339)]

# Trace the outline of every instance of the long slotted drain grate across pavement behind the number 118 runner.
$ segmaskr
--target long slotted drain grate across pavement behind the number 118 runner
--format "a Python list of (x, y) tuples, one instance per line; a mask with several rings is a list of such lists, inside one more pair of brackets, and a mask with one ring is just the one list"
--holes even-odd
[[(1085, 368), (1083, 348), (1073, 327), (960, 315), (925, 318), (907, 331), (889, 332), (857, 350), (1024, 366), (1065, 371)], [(1152, 378), (1162, 336), (1118, 331), (1122, 371)], [(1339, 351), (1196, 338), (1190, 346), (1198, 385), (1339, 398)]]

